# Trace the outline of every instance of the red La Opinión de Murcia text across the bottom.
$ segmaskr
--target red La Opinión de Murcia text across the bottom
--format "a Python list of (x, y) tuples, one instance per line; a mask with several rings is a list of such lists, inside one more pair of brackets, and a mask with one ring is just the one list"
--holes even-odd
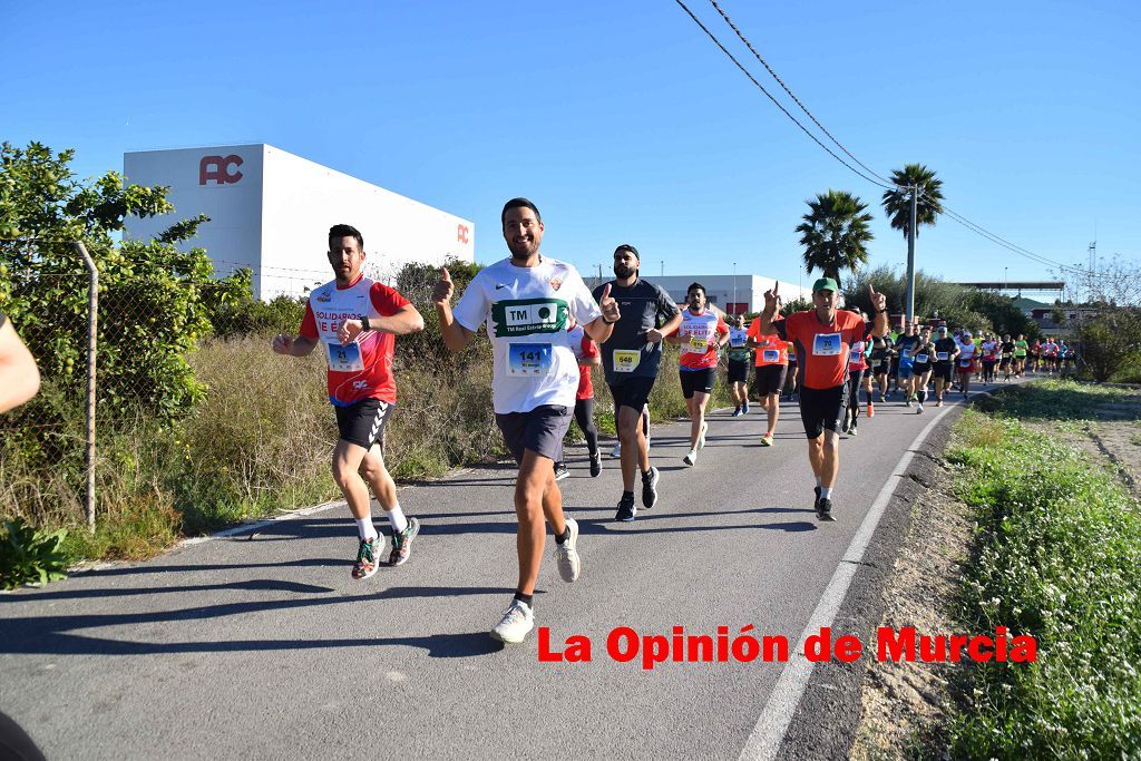
[[(855, 634), (834, 635), (825, 626), (804, 638), (803, 655), (812, 663), (839, 661), (853, 663), (865, 655), (865, 645)], [(875, 658), (923, 663), (1034, 663), (1038, 645), (1029, 634), (1011, 635), (1005, 626), (994, 634), (921, 634), (914, 626), (881, 626), (875, 633)], [(638, 663), (646, 671), (662, 663), (784, 663), (788, 661), (788, 638), (760, 634), (753, 625), (730, 631), (718, 626), (714, 634), (689, 633), (674, 626), (670, 634), (640, 634), (630, 626), (617, 626), (606, 638), (606, 657), (617, 663)], [(593, 642), (585, 634), (570, 634), (561, 642), (551, 641), (549, 626), (539, 628), (540, 663), (591, 663)]]

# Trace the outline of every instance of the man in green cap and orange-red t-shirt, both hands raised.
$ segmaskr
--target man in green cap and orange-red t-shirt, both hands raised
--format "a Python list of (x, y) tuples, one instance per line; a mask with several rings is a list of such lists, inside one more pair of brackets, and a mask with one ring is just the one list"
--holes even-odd
[(875, 325), (871, 331), (860, 315), (839, 310), (840, 288), (832, 277), (812, 284), (815, 309), (796, 311), (777, 319), (780, 297), (777, 285), (764, 292), (759, 333), (778, 334), (792, 341), (803, 372), (800, 387), (800, 416), (808, 435), (808, 460), (816, 476), (816, 516), (832, 517), (832, 487), (840, 470), (840, 427), (844, 418), (844, 389), (848, 383), (848, 357), (852, 345), (868, 337), (888, 333), (888, 300), (868, 286)]

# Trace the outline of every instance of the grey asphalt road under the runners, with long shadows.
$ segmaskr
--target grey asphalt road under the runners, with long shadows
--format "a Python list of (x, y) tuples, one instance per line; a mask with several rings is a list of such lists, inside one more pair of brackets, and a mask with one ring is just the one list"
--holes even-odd
[(589, 663), (540, 662), (537, 629), (507, 649), (487, 634), (516, 580), (503, 464), (402, 488), (422, 521), (412, 559), (363, 582), (339, 505), (2, 594), (0, 711), (57, 759), (737, 758), (787, 664), (644, 670), (607, 635), (752, 624), (795, 650), (905, 450), (947, 411), (876, 405), (841, 444), (833, 524), (812, 511), (794, 404), (771, 448), (755, 406), (714, 413), (694, 468), (688, 423), (655, 427), (662, 496), (632, 524), (613, 520), (617, 461), (591, 479), (568, 450), (583, 574), (565, 584), (547, 556), (536, 625), (556, 649), (588, 637)]

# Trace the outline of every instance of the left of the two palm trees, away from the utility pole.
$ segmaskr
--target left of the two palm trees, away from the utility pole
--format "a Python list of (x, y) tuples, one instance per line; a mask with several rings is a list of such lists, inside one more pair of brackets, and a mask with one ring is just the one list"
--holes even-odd
[(856, 270), (867, 264), (867, 243), (872, 240), (872, 214), (859, 196), (844, 191), (818, 194), (808, 201), (804, 221), (796, 227), (804, 246), (804, 269), (819, 269), (840, 283), (840, 270)]

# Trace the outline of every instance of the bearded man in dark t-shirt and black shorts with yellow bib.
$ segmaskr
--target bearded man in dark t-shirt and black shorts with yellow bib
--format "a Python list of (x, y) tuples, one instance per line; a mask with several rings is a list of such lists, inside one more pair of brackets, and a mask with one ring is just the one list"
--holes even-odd
[(614, 250), (615, 278), (594, 289), (596, 298), (609, 293), (621, 311), (614, 332), (607, 341), (599, 342), (599, 348), (606, 384), (614, 397), (614, 424), (622, 445), (622, 497), (614, 519), (623, 523), (630, 523), (638, 513), (636, 470), (641, 473), (642, 507), (648, 510), (657, 503), (659, 475), (657, 468), (649, 464), (649, 439), (642, 418), (645, 415), (648, 423), (647, 402), (662, 363), (662, 340), (681, 324), (678, 305), (665, 289), (638, 276), (639, 264), (638, 249), (623, 243)]

